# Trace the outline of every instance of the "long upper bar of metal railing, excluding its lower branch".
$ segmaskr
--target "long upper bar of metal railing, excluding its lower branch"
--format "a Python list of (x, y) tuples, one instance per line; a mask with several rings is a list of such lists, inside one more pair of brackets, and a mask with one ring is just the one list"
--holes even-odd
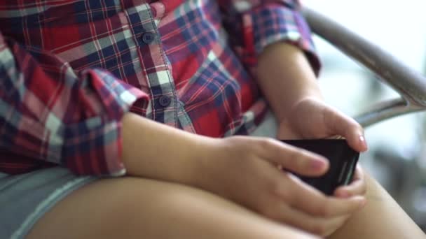
[(349, 29), (309, 8), (308, 24), (318, 36), (369, 68), (411, 104), (426, 106), (426, 78)]

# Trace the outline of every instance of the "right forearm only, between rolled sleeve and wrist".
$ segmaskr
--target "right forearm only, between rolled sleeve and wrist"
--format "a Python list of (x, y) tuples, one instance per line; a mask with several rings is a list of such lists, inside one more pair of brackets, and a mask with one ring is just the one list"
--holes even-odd
[(259, 56), (258, 83), (277, 119), (283, 119), (301, 99), (322, 99), (308, 59), (288, 43), (269, 45)]

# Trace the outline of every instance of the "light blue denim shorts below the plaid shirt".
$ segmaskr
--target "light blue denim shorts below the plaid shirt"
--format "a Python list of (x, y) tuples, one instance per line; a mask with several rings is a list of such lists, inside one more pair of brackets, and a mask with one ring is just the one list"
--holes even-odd
[[(268, 113), (250, 135), (274, 137), (275, 118)], [(76, 176), (67, 168), (46, 168), (20, 175), (0, 173), (0, 238), (25, 238), (50, 208), (85, 184), (100, 180)]]

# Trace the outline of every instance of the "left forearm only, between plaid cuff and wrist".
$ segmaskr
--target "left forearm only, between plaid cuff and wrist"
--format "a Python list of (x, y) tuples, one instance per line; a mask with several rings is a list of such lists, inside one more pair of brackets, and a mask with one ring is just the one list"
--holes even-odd
[(129, 175), (188, 184), (202, 147), (212, 138), (187, 133), (132, 113), (123, 118), (123, 164)]

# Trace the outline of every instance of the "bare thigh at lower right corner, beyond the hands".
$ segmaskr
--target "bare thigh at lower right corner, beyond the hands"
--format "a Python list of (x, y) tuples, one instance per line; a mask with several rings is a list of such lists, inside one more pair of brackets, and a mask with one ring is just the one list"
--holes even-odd
[(376, 180), (366, 175), (367, 204), (331, 238), (426, 238), (398, 203)]

